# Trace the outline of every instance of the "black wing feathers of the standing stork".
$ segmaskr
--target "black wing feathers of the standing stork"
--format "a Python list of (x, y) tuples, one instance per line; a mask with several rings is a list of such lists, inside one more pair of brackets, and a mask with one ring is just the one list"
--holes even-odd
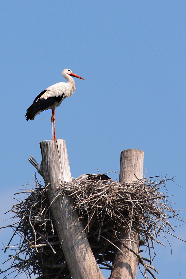
[(60, 96), (48, 97), (47, 99), (40, 99), (40, 97), (47, 90), (42, 91), (33, 101), (33, 104), (27, 109), (27, 113), (25, 115), (26, 120), (33, 120), (39, 111), (47, 110), (49, 107), (54, 105), (55, 103), (60, 103), (63, 99), (64, 93)]

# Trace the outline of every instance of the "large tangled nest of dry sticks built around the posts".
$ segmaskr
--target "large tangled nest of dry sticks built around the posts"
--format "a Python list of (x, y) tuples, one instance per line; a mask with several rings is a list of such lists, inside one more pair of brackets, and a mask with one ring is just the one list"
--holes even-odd
[[(141, 179), (127, 183), (74, 179), (71, 182), (61, 181), (58, 196), (68, 194), (73, 199), (74, 210), (80, 212), (92, 252), (101, 268), (113, 268), (114, 253), (121, 244), (125, 245), (125, 233), (130, 239), (135, 230), (140, 237), (139, 246), (145, 246), (149, 259), (142, 257), (142, 250), (137, 254), (130, 247), (125, 248), (138, 257), (144, 267), (144, 277), (148, 271), (156, 278), (151, 271), (157, 272), (152, 267), (156, 255), (154, 243), (164, 245), (157, 240), (157, 236), (174, 231), (170, 219), (181, 220), (167, 200), (167, 191), (160, 192), (167, 180), (153, 182)], [(8, 227), (14, 233), (4, 251), (16, 247), (15, 254), (9, 255), (11, 267), (0, 271), (0, 274), (7, 278), (6, 273), (9, 275), (16, 271), (15, 277), (25, 272), (28, 278), (31, 278), (31, 274), (41, 279), (71, 278), (60, 248), (46, 187), (39, 184), (37, 179), (35, 182), (36, 188), (29, 190), (24, 201), (11, 209), (14, 213), (13, 223)], [(11, 245), (16, 235), (20, 236), (20, 242)]]

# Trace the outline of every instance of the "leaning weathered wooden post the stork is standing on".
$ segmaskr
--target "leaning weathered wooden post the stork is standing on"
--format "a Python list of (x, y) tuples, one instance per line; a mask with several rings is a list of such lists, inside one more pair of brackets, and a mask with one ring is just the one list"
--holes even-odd
[(104, 279), (91, 251), (86, 232), (82, 232), (84, 227), (79, 215), (73, 211), (68, 195), (54, 201), (59, 191), (59, 179), (72, 180), (65, 140), (45, 140), (40, 142), (40, 148), (41, 165), (33, 157), (30, 157), (29, 161), (48, 185), (52, 215), (70, 273), (73, 279)]

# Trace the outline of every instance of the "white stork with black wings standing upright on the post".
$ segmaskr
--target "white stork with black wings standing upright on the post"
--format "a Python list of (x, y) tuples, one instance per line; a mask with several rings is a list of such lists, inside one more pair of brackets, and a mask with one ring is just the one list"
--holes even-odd
[[(55, 137), (55, 108), (58, 107), (64, 98), (73, 94), (76, 89), (75, 82), (72, 77), (81, 78), (69, 69), (64, 69), (62, 72), (67, 82), (58, 82), (44, 91), (42, 91), (33, 101), (33, 104), (27, 109), (26, 120), (33, 120), (37, 114), (47, 109), (52, 109), (52, 139)], [(84, 79), (84, 78), (81, 78)], [(54, 130), (54, 135), (53, 135)]]

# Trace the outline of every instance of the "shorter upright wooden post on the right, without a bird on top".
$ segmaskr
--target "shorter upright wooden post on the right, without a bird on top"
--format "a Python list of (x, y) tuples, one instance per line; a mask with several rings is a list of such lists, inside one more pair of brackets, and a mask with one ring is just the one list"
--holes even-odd
[[(120, 160), (120, 181), (131, 182), (143, 178), (143, 159), (144, 152), (139, 149), (128, 149), (121, 152)], [(137, 177), (137, 178), (136, 178)], [(139, 252), (139, 235), (138, 230), (133, 229), (124, 232), (121, 236), (119, 248), (128, 256), (126, 257), (121, 251), (116, 251), (115, 260), (112, 269), (112, 279), (135, 279), (138, 259), (133, 252), (129, 252), (126, 247), (130, 247), (137, 254)]]

